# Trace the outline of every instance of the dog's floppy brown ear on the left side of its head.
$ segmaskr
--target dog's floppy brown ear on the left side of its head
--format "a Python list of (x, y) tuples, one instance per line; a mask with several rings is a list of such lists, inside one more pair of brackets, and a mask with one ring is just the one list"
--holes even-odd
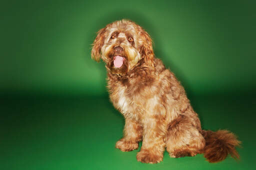
[(105, 39), (104, 32), (105, 32), (105, 28), (99, 29), (99, 31), (97, 32), (97, 36), (92, 44), (91, 58), (97, 62), (99, 62), (99, 60), (100, 60), (101, 47), (102, 47), (102, 45), (104, 43), (104, 39)]

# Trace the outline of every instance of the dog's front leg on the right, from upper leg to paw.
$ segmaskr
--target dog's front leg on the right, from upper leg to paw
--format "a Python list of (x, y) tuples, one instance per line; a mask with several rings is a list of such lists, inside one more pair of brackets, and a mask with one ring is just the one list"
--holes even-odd
[(164, 120), (156, 116), (145, 117), (143, 120), (143, 141), (137, 160), (143, 163), (158, 163), (164, 151)]

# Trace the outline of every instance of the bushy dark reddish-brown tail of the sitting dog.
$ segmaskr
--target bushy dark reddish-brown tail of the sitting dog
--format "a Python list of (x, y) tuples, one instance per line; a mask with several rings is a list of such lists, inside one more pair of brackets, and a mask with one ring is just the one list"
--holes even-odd
[(224, 160), (229, 153), (234, 159), (239, 159), (239, 154), (235, 150), (241, 143), (237, 137), (228, 130), (202, 130), (205, 138), (205, 146), (202, 150), (204, 157), (209, 162)]

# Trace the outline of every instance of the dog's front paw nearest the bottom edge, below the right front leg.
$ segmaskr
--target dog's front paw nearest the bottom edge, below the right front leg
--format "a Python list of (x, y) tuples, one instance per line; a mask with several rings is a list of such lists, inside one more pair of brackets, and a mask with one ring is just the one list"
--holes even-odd
[(162, 161), (163, 154), (157, 154), (156, 152), (149, 151), (148, 149), (143, 149), (137, 153), (136, 158), (142, 163), (159, 163)]

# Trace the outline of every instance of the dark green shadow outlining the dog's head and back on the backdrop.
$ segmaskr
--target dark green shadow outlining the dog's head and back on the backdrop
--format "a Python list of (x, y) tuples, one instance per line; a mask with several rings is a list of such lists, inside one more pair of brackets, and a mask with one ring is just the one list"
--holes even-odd
[[(156, 31), (156, 26), (158, 25), (153, 25), (151, 23), (153, 23), (152, 20), (148, 19), (146, 16), (144, 16), (142, 13), (136, 11), (136, 10), (115, 10), (114, 12), (109, 12), (108, 14), (104, 15), (104, 16), (99, 16), (98, 19), (95, 19), (95, 21), (91, 22), (90, 26), (87, 28), (88, 33), (86, 34), (86, 38), (85, 38), (85, 44), (92, 44), (93, 40), (96, 37), (96, 32), (100, 29), (105, 27), (106, 24), (113, 22), (115, 20), (120, 20), (120, 19), (130, 19), (134, 22), (136, 22), (137, 24), (139, 24), (140, 26), (142, 26), (151, 36), (152, 41), (153, 41), (153, 49), (154, 49), (154, 53), (155, 56), (157, 58), (160, 58), (163, 62), (163, 64), (165, 65), (166, 68), (169, 68), (177, 77), (177, 79), (181, 82), (181, 84), (183, 85), (187, 97), (191, 102), (191, 105), (193, 106), (195, 112), (199, 113), (200, 110), (199, 107), (197, 106), (196, 102), (193, 102), (195, 100), (195, 93), (191, 90), (191, 88), (189, 87), (189, 83), (187, 82), (183, 72), (182, 72), (182, 68), (178, 68), (177, 66), (175, 66), (174, 62), (171, 61), (171, 58), (173, 58), (173, 54), (171, 53), (164, 53), (161, 50), (161, 46), (163, 46), (162, 44), (164, 44), (164, 42), (159, 39), (158, 37), (160, 32)], [(170, 30), (171, 31), (171, 30)], [(85, 45), (84, 45), (85, 46)], [(88, 67), (93, 67), (95, 69), (95, 67), (100, 70), (100, 80), (102, 80), (100, 82), (100, 87), (104, 88), (105, 91), (103, 92), (104, 96), (108, 96), (107, 93), (107, 89), (106, 89), (106, 70), (104, 67), (104, 63), (102, 61), (100, 61), (100, 64), (96, 63), (95, 61), (92, 61), (90, 57), (90, 50), (91, 50), (91, 45), (90, 46), (85, 46), (84, 47), (84, 51), (85, 51), (85, 62), (87, 63), (86, 65)], [(110, 102), (109, 102), (110, 104)], [(118, 111), (115, 111), (118, 112)], [(199, 117), (201, 117), (200, 113), (199, 113)], [(123, 121), (124, 123), (124, 121)]]

